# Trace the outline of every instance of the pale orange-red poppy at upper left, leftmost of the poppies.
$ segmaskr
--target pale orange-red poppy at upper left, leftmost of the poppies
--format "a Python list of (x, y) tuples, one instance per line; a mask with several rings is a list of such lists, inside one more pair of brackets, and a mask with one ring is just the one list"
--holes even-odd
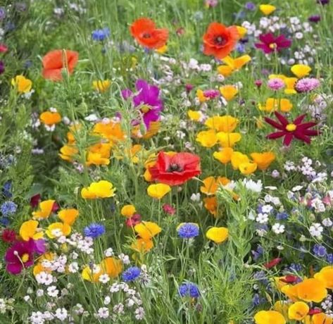
[(49, 51), (42, 59), (42, 75), (45, 79), (60, 81), (63, 79), (61, 70), (66, 68), (68, 73), (72, 74), (78, 59), (79, 54), (77, 51), (70, 51), (68, 49)]

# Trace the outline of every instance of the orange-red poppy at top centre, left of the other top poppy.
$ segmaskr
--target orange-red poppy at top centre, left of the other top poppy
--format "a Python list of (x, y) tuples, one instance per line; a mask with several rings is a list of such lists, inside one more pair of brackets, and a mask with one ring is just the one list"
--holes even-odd
[(139, 18), (130, 27), (132, 36), (137, 42), (149, 49), (160, 49), (168, 41), (169, 32), (165, 28), (156, 28), (153, 20)]

